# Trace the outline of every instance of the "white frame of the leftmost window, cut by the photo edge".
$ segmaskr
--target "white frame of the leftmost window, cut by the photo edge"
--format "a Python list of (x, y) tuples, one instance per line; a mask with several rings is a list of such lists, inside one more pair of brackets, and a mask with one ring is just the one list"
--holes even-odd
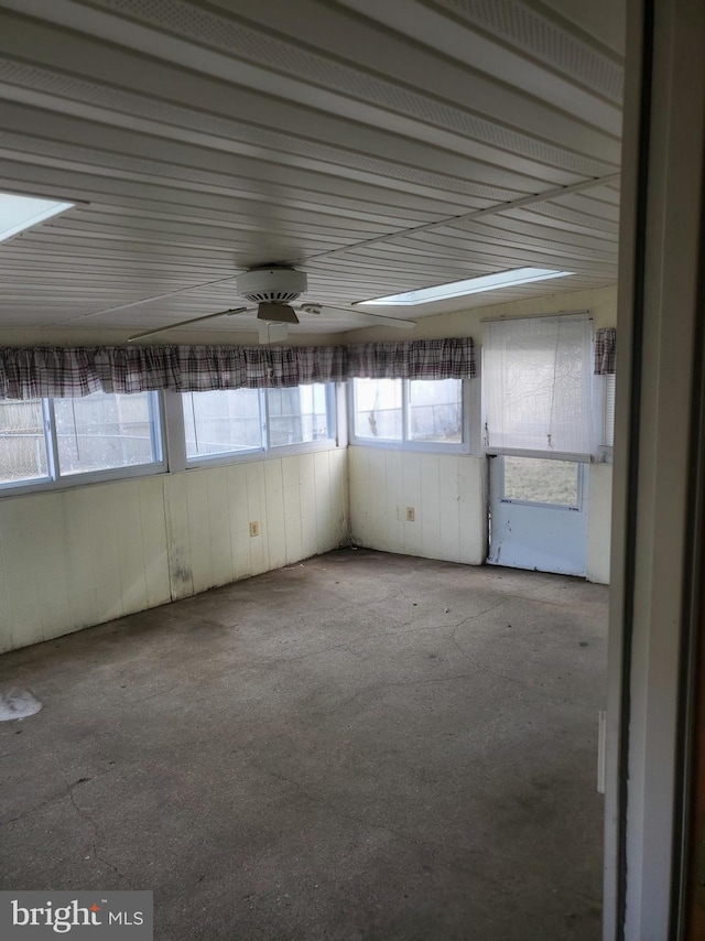
[(74, 474), (62, 474), (58, 461), (58, 436), (54, 411), (54, 401), (61, 397), (46, 397), (39, 399), (39, 401), (42, 408), (47, 474), (44, 477), (36, 477), (34, 479), (0, 482), (0, 499), (10, 496), (66, 490), (88, 484), (104, 484), (131, 477), (147, 477), (153, 474), (166, 473), (169, 469), (169, 456), (165, 441), (166, 423), (163, 398), (155, 391), (148, 391), (145, 394), (148, 396), (150, 414), (152, 453), (158, 454), (159, 459), (149, 464), (129, 464), (121, 467), (108, 467), (104, 470), (82, 470)]

